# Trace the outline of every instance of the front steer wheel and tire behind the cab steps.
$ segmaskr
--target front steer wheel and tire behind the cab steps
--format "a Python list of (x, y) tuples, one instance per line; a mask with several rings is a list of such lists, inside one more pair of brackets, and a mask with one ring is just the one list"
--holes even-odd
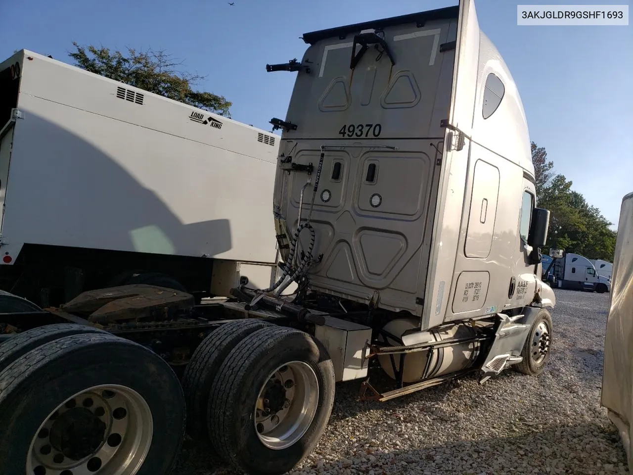
[(538, 376), (549, 360), (552, 342), (552, 317), (542, 308), (534, 319), (530, 333), (525, 339), (521, 356), (523, 360), (513, 365), (513, 369), (529, 376)]

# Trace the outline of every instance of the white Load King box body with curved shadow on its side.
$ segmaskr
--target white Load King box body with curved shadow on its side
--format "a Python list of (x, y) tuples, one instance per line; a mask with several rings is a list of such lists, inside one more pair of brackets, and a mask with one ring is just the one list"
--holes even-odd
[(27, 50), (0, 91), (4, 290), (270, 284), (279, 137)]

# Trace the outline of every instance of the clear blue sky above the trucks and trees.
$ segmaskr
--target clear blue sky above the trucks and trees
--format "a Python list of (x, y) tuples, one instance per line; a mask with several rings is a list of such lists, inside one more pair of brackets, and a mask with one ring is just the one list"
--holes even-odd
[[(183, 70), (206, 75), (198, 89), (232, 101), (232, 118), (270, 130), (271, 118), (285, 118), (296, 73), (267, 73), (266, 63), (301, 60), (303, 33), (458, 3), (234, 2), (0, 0), (0, 61), (25, 48), (71, 63), (73, 41), (165, 49), (184, 61)], [(630, 9), (630, 0), (611, 3)], [(633, 26), (517, 26), (517, 2), (475, 0), (475, 8), (517, 83), (530, 139), (546, 148), (573, 190), (617, 225), (622, 197), (633, 191)]]

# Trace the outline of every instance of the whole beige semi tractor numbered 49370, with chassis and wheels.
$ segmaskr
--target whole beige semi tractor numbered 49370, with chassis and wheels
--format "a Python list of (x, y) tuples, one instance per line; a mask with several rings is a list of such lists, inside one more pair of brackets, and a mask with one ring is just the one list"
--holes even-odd
[[(549, 212), (472, 1), (303, 40), (301, 61), (266, 66), (297, 73), (271, 120), (279, 279), (208, 305), (138, 284), (43, 311), (6, 295), (22, 312), (0, 314), (5, 471), (167, 474), (186, 428), (224, 466), (282, 474), (318, 443), (339, 381), (380, 402), (543, 371)], [(261, 238), (252, 205), (233, 211)]]

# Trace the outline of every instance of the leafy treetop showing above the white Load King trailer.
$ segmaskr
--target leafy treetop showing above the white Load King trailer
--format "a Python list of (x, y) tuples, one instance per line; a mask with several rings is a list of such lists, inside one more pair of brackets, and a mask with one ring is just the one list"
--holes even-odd
[(192, 84), (204, 76), (180, 72), (177, 63), (165, 51), (136, 51), (127, 48), (127, 54), (96, 46), (79, 46), (73, 41), (75, 51), (68, 56), (75, 60), (75, 66), (92, 73), (139, 87), (145, 91), (160, 94), (190, 106), (230, 117), (232, 103), (223, 96), (212, 92), (194, 91)]

